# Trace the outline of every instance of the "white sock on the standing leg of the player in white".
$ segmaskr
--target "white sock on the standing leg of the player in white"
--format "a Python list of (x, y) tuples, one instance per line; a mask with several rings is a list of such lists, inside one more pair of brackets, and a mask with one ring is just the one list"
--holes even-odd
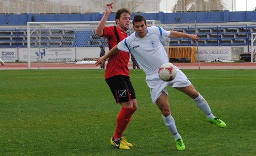
[(162, 117), (163, 117), (164, 124), (166, 124), (166, 127), (170, 130), (172, 135), (174, 135), (174, 138), (176, 140), (178, 138), (180, 138), (180, 134), (177, 132), (175, 121), (174, 121), (174, 118), (172, 117), (172, 115), (171, 114), (169, 116), (162, 115)]

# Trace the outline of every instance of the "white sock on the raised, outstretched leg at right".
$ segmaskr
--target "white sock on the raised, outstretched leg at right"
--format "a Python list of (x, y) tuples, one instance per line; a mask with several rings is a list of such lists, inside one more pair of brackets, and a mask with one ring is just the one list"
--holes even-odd
[(194, 99), (194, 102), (196, 103), (196, 106), (200, 108), (205, 113), (205, 115), (207, 115), (209, 119), (214, 118), (207, 101), (203, 98), (202, 95), (199, 94), (199, 96)]

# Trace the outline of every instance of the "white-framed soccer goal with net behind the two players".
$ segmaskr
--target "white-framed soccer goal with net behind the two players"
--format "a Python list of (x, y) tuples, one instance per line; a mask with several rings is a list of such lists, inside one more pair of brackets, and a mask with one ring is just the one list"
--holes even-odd
[[(147, 23), (148, 26), (160, 26), (156, 20), (147, 20)], [(100, 47), (109, 51), (106, 38), (95, 35), (97, 24), (28, 22), (28, 69), (97, 69), (94, 59), (100, 57)], [(106, 26), (114, 25), (114, 21), (106, 22)], [(127, 33), (132, 32), (131, 23)], [(129, 67), (132, 66), (130, 59)]]

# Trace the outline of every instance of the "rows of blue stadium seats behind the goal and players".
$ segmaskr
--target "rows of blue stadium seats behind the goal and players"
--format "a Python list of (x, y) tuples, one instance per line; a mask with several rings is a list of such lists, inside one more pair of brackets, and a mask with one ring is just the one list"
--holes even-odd
[[(176, 27), (175, 31), (195, 33), (194, 27)], [(55, 30), (53, 30), (55, 31)], [(197, 35), (200, 37), (200, 46), (221, 46), (221, 45), (248, 45), (250, 44), (250, 32), (256, 32), (256, 25), (251, 24), (237, 25), (237, 26), (211, 26), (197, 27)], [(61, 35), (56, 35), (49, 32), (48, 36), (43, 36), (44, 39), (55, 39), (55, 44), (61, 47), (62, 43), (66, 43), (67, 39), (71, 39), (74, 36), (75, 39), (73, 43), (69, 43), (71, 47), (83, 47), (84, 45), (88, 47), (96, 47), (98, 45), (107, 45), (106, 39), (96, 36), (92, 31), (84, 31), (70, 35), (70, 32), (60, 32)], [(54, 35), (52, 35), (54, 34)], [(63, 37), (63, 34), (65, 37)], [(88, 36), (89, 37), (82, 37)], [(82, 39), (82, 40), (81, 40)], [(34, 40), (31, 40), (32, 45), (37, 45)], [(57, 42), (56, 42), (57, 41)], [(45, 43), (51, 45), (51, 43)], [(193, 43), (189, 39), (171, 39), (170, 44), (172, 46), (191, 46)], [(2, 48), (15, 48), (15, 47), (26, 47), (27, 46), (27, 31), (24, 28), (1, 28), (0, 29), (0, 47)]]

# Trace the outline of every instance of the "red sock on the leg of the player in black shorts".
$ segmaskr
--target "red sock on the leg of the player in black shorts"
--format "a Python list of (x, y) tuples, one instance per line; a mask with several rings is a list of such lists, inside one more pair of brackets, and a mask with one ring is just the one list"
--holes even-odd
[(121, 108), (117, 116), (117, 125), (115, 127), (114, 139), (122, 138), (122, 133), (125, 131), (127, 125), (129, 124), (133, 112), (133, 108)]

